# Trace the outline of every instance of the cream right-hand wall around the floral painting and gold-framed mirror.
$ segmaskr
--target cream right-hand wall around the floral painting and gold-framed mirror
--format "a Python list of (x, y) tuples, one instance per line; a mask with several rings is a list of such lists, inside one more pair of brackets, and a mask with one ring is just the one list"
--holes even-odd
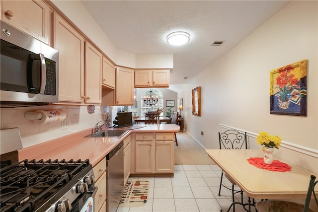
[[(205, 148), (219, 148), (218, 132), (224, 131), (220, 124), (256, 134), (265, 131), (317, 155), (317, 8), (318, 1), (292, 1), (191, 81), (186, 88), (186, 131)], [(307, 117), (270, 114), (269, 72), (305, 59)], [(191, 115), (191, 90), (197, 86), (201, 117)], [(317, 171), (317, 156), (315, 161)]]

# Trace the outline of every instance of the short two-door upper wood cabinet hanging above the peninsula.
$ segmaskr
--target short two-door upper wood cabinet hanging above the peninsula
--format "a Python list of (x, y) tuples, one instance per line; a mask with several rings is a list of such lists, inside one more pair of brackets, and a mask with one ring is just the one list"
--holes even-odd
[(135, 70), (135, 87), (169, 87), (170, 71), (167, 69)]

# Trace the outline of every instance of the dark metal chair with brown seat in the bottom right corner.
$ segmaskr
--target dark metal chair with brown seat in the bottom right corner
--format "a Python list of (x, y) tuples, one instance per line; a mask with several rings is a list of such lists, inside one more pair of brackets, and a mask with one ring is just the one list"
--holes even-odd
[(282, 201), (282, 200), (267, 200), (256, 203), (256, 209), (258, 212), (314, 212), (309, 208), (312, 195), (316, 201), (318, 207), (318, 200), (315, 194), (315, 186), (318, 183), (316, 176), (312, 175), (310, 177), (308, 192), (305, 200), (305, 204)]

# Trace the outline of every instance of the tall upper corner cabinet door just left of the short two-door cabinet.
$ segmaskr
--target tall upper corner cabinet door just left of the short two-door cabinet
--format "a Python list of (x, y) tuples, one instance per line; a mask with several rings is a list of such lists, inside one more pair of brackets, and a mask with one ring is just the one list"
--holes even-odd
[(116, 105), (134, 105), (134, 70), (116, 68)]

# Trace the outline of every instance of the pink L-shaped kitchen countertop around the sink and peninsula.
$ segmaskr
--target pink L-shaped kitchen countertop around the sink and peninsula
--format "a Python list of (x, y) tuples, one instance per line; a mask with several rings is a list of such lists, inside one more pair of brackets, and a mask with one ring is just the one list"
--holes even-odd
[[(107, 128), (104, 130), (127, 129)], [(174, 124), (146, 125), (146, 127), (143, 128), (127, 130), (127, 132), (120, 138), (84, 138), (91, 133), (91, 129), (87, 129), (62, 138), (18, 149), (19, 161), (24, 159), (89, 159), (89, 162), (92, 166), (94, 166), (131, 133), (173, 133), (178, 132), (179, 130), (180, 127)]]

